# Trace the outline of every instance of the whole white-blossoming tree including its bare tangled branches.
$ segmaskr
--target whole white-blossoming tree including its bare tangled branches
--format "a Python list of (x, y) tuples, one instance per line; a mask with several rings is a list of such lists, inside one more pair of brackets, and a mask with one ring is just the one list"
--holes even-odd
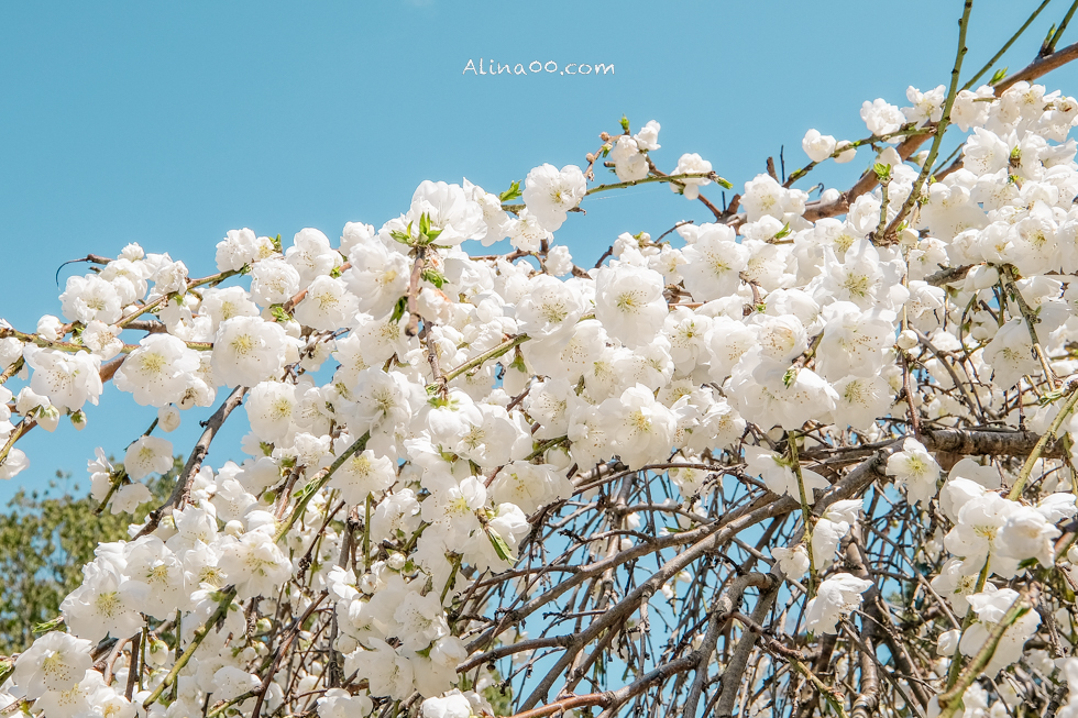
[[(0, 325), (0, 475), (112, 382), (157, 408), (88, 462), (132, 513), (209, 416), (7, 661), (4, 711), (1078, 715), (1078, 100), (1035, 84), (1078, 45), (1068, 13), (960, 86), (970, 8), (949, 86), (810, 130), (722, 208), (707, 161), (664, 173), (623, 120), (522, 190), (425, 181), (339, 242), (230, 231), (208, 277), (86, 257), (62, 317)], [(866, 151), (848, 191), (795, 187)], [(575, 265), (570, 214), (645, 183), (707, 221)]]

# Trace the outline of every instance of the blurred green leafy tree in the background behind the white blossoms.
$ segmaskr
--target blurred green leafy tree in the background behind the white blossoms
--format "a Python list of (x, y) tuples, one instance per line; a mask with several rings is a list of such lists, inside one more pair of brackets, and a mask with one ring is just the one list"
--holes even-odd
[[(164, 477), (148, 479), (154, 499), (134, 516), (146, 513), (172, 493), (183, 460), (176, 457)], [(57, 472), (58, 479), (69, 479)], [(79, 485), (51, 480), (43, 491), (20, 489), (0, 513), (0, 654), (24, 650), (34, 640), (34, 627), (59, 615), (67, 594), (82, 583), (82, 565), (94, 560), (99, 542), (128, 539), (132, 517), (108, 510), (95, 516), (97, 501), (79, 495)]]

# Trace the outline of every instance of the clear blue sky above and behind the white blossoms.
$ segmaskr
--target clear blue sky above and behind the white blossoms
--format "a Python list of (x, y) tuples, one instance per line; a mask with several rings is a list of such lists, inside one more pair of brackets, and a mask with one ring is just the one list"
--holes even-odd
[[(1036, 4), (977, 0), (967, 68)], [(1055, 0), (1001, 65), (1027, 64), (1067, 4)], [(660, 167), (698, 152), (739, 189), (780, 145), (788, 169), (803, 164), (807, 129), (864, 136), (861, 101), (901, 106), (908, 85), (946, 84), (960, 12), (959, 0), (3, 3), (0, 317), (32, 331), (58, 314), (54, 273), (88, 252), (139, 242), (201, 276), (229, 229), (288, 240), (316, 227), (336, 239), (348, 221), (405, 211), (424, 179), (497, 192), (543, 162), (583, 165), (623, 113), (634, 131), (662, 124)], [(464, 75), (481, 57), (616, 69)], [(1078, 68), (1046, 81), (1078, 95)], [(870, 162), (862, 153), (820, 179), (848, 186)], [(580, 264), (620, 232), (707, 219), (662, 186), (584, 207), (558, 235)], [(89, 413), (81, 433), (62, 426), (21, 442), (32, 467), (0, 500), (57, 468), (85, 488), (94, 446), (122, 453), (154, 416), (111, 387)], [(178, 451), (208, 413), (185, 415), (169, 437)], [(215, 466), (239, 454), (238, 433), (223, 439)]]

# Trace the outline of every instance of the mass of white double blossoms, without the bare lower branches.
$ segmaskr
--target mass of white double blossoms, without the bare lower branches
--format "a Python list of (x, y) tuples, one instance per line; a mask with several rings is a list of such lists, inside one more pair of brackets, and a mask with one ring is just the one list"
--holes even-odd
[[(156, 510), (98, 546), (63, 628), (15, 661), (7, 700), (50, 718), (190, 716), (305, 695), (326, 718), (418, 695), (432, 718), (493, 714), (459, 689), (458, 666), (487, 645), (462, 639), (485, 629), (458, 609), (530, 550), (539, 517), (587, 506), (588, 480), (614, 465), (666, 465), (679, 494), (668, 508), (689, 517), (716, 474), (795, 500), (801, 539), (769, 546), (773, 571), (809, 592), (809, 632), (837, 633), (876, 585), (840, 561), (869, 509), (855, 496), (814, 512), (838, 474), (798, 446), (846, 444), (887, 444), (892, 499), (936, 517), (924, 552), (942, 567), (927, 583), (969, 617), (933, 636), (942, 673), (1004, 617), (983, 672), (1022, 660), (1041, 618), (1012, 611), (1027, 600), (1015, 579), (1078, 559), (1056, 545), (1078, 513), (1071, 457), (1038, 459), (1042, 446), (1021, 470), (965, 457), (943, 478), (921, 427), (1078, 430), (1066, 380), (1078, 373), (1078, 101), (1027, 82), (963, 90), (950, 115), (971, 132), (961, 166), (928, 181), (893, 145), (939, 122), (944, 95), (865, 103), (883, 184), (844, 219), (810, 221), (807, 192), (760, 175), (737, 212), (682, 223), (674, 242), (623, 234), (585, 270), (554, 233), (591, 168), (542, 165), (522, 206), (424, 181), (406, 212), (349, 223), (338, 241), (230, 231), (206, 279), (138, 245), (72, 277), (62, 317), (0, 328), (0, 371), (25, 379), (0, 386), (0, 476), (29, 465), (19, 437), (64, 416), (85, 426), (111, 379), (157, 422), (122, 463), (103, 450), (89, 462), (94, 496), (118, 513)], [(626, 128), (605, 145), (622, 183), (664, 179), (695, 200), (719, 181), (694, 154), (656, 175), (659, 131)], [(865, 144), (813, 130), (804, 150), (849, 162)], [(512, 255), (469, 254), (502, 240)], [(201, 446), (173, 499), (146, 507), (144, 479), (173, 466), (160, 433), (202, 407), (223, 421), (241, 398), (243, 456), (210, 466)], [(333, 628), (319, 634), (304, 621), (322, 608)], [(290, 636), (277, 651), (321, 641), (324, 658), (279, 678), (276, 631)], [(491, 639), (525, 640), (508, 627)], [(95, 652), (124, 645), (127, 667), (102, 673)]]

